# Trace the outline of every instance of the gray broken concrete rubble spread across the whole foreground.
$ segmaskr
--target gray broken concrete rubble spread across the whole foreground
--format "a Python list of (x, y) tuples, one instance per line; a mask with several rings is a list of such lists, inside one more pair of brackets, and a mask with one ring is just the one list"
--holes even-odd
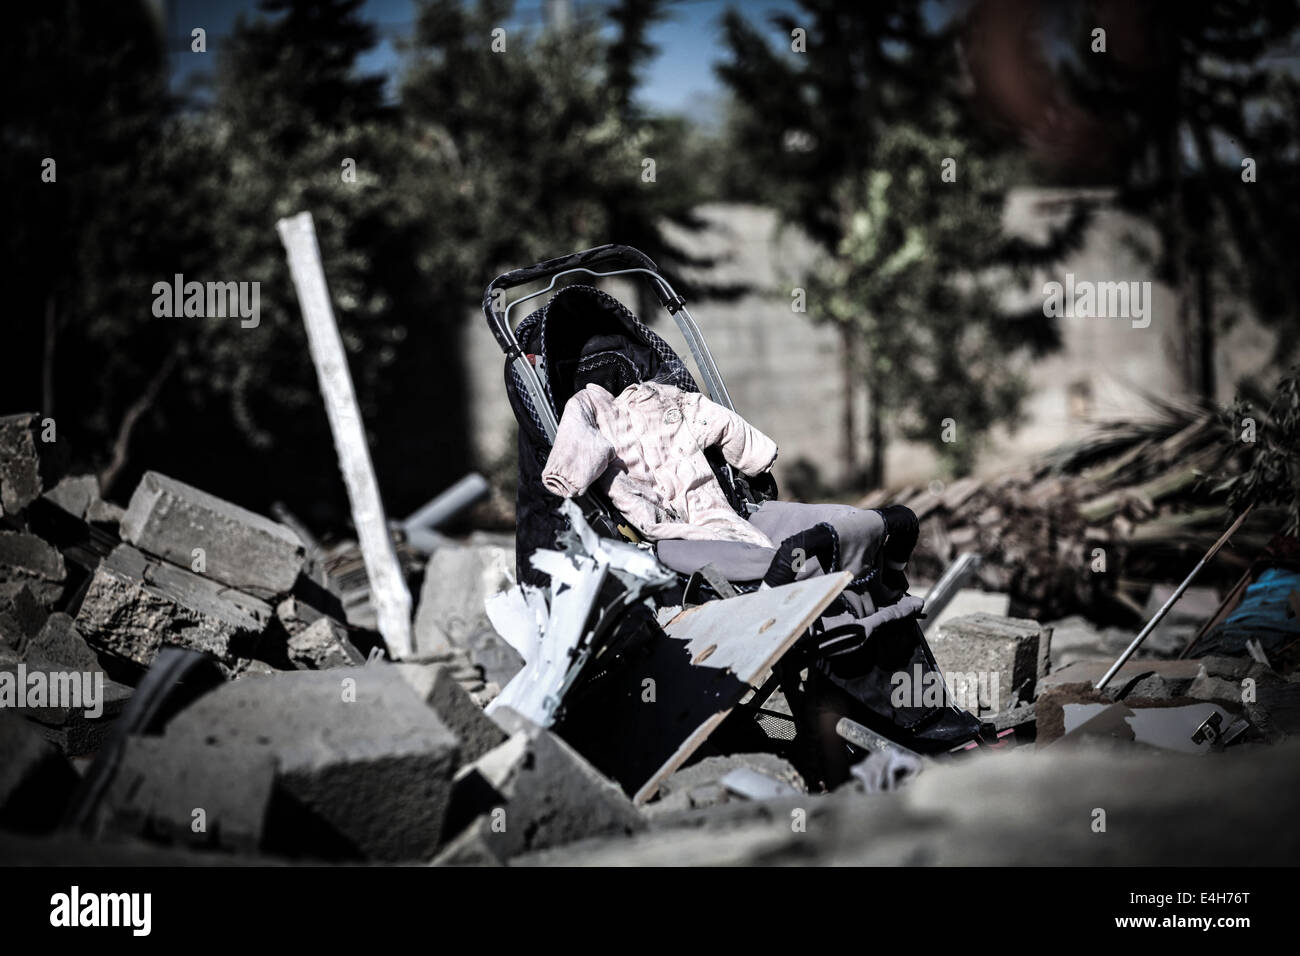
[[(156, 472), (114, 507), (92, 477), (60, 473), (34, 416), (0, 419), (0, 442), (5, 861), (1219, 864), (1300, 849), (1275, 799), (1300, 784), (1291, 658), (1176, 657), (1223, 617), (1216, 592), (1186, 597), (1104, 691), (1131, 632), (961, 592), (927, 639), (988, 745), (918, 757), (887, 741), (826, 791), (788, 735), (705, 721), (637, 790), (556, 717), (585, 648), (581, 602), (632, 606), (651, 574), (580, 515), (563, 551), (537, 557), (568, 575), (556, 594), (516, 588), (508, 538), (447, 540), (422, 567), (407, 553), (416, 653), (391, 661), (346, 548)], [(833, 584), (670, 609), (664, 633), (685, 667), (732, 659), (720, 628), (748, 618), (722, 604), (758, 615), (745, 648), (788, 648), (781, 628), (806, 628)], [(538, 645), (560, 639), (563, 654)], [(708, 693), (728, 676), (738, 700), (774, 659), (728, 663)], [(159, 683), (181, 661), (192, 669)], [(780, 692), (766, 709), (764, 734), (789, 714)]]

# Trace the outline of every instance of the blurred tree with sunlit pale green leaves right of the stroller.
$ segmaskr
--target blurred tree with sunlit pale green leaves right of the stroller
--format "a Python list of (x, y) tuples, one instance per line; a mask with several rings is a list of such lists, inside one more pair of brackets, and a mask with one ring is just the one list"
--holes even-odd
[[(736, 12), (724, 18), (731, 135), (748, 166), (740, 178), (829, 256), (809, 304), (838, 329), (846, 380), (866, 386), (864, 480), (885, 480), (889, 419), (968, 468), (980, 436), (1017, 420), (1019, 356), (1058, 341), (1041, 311), (1004, 315), (998, 290), (1079, 243), (1087, 211), (1037, 247), (1001, 234), (1005, 148), (961, 109), (953, 38), (919, 4), (801, 0), (772, 23), (764, 34)], [(954, 181), (944, 160), (956, 161)], [(846, 390), (850, 476), (855, 405)], [(949, 418), (956, 442), (940, 428)]]

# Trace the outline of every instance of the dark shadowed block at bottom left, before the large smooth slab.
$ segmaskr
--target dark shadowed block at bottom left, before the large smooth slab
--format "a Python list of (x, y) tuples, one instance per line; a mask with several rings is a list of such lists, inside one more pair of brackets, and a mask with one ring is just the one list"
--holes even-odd
[(129, 737), (100, 808), (100, 830), (157, 843), (256, 853), (276, 782), (276, 757), (252, 741), (209, 745)]

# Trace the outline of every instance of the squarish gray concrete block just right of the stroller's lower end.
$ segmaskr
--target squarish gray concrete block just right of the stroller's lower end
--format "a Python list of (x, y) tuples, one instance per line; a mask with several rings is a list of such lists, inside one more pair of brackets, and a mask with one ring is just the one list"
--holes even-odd
[(970, 614), (946, 620), (930, 635), (939, 669), (968, 710), (971, 693), (963, 687), (980, 695), (988, 688), (993, 700), (979, 700), (979, 705), (980, 713), (991, 715), (1032, 700), (1037, 682), (1046, 676), (1052, 628), (1036, 620)]

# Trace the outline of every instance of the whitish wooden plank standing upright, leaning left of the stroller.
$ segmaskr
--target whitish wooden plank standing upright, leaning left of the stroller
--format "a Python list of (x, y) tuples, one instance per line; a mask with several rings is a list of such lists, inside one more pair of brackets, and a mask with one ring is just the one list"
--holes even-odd
[(370, 464), (370, 450), (365, 444), (361, 410), (352, 389), (352, 376), (347, 368), (343, 339), (334, 321), (325, 271), (321, 268), (316, 226), (309, 212), (282, 219), (276, 224), (289, 269), (294, 276), (298, 304), (307, 325), (307, 345), (320, 378), (321, 397), (329, 416), (338, 464), (347, 485), (347, 498), (352, 506), (352, 524), (361, 545), (361, 558), (370, 580), (370, 602), (374, 605), (378, 631), (394, 658), (415, 653), (415, 632), (411, 628), (411, 592), (407, 591), (402, 566), (389, 535), (389, 523), (380, 499), (380, 485)]

